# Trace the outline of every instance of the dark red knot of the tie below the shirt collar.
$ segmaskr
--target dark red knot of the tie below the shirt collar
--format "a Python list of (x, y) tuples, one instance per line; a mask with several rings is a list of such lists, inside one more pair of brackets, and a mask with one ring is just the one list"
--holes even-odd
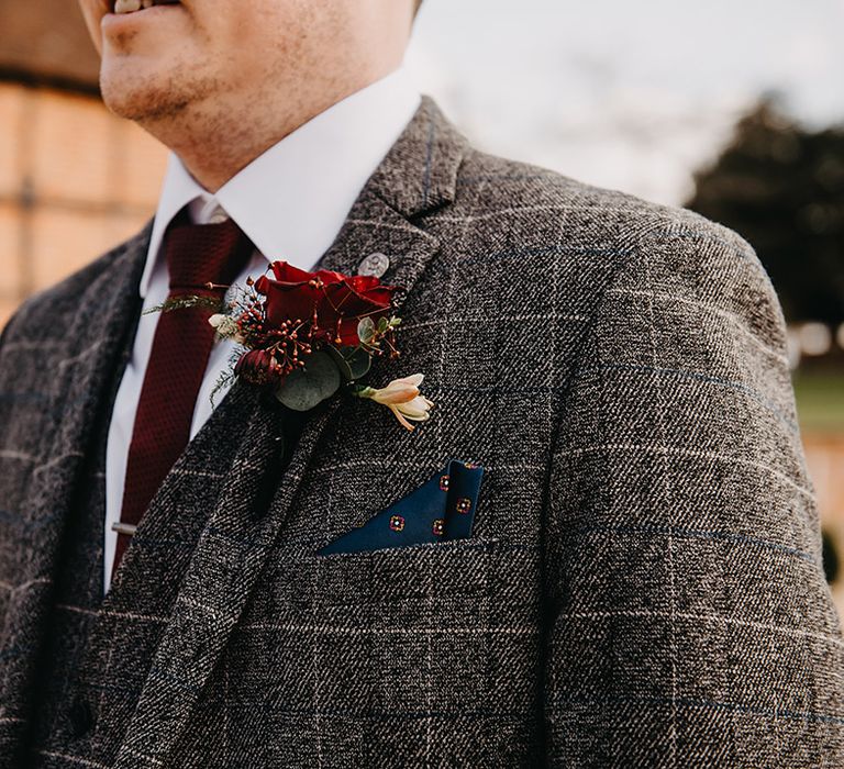
[(167, 231), (165, 243), (170, 292), (222, 293), (223, 289), (209, 289), (209, 285), (231, 285), (253, 249), (232, 219), (219, 224), (185, 224), (179, 218)]

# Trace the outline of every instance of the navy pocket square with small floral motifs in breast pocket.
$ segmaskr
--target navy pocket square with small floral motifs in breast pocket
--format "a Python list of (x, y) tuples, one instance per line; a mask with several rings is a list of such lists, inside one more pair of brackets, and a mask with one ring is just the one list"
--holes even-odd
[(430, 481), (318, 555), (366, 553), (471, 536), (484, 468), (452, 459)]

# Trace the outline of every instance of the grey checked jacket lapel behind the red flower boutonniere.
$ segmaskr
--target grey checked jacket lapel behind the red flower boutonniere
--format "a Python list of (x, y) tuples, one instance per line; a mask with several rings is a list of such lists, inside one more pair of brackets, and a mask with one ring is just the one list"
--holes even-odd
[[(391, 268), (384, 280), (404, 289), (398, 299), (401, 304), (440, 246), (413, 221), (454, 199), (465, 149), (463, 136), (424, 98), (319, 266), (355, 274), (368, 254), (386, 253)], [(278, 472), (274, 446), (285, 430), (282, 414), (256, 408), (244, 425), (225, 492), (199, 537), (115, 768), (159, 765), (179, 738), (297, 501), (303, 477), (329, 445), (341, 402), (334, 397), (307, 415), (263, 515), (263, 505), (256, 505), (260, 488), (256, 477)]]

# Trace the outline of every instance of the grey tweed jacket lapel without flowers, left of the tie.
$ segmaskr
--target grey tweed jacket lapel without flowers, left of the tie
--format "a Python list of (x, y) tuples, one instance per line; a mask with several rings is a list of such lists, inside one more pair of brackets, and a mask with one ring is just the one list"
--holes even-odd
[[(75, 341), (67, 357), (44, 370), (57, 379), (47, 408), (42, 458), (32, 473), (23, 505), (25, 557), (21, 557), (21, 586), (12, 594), (4, 649), (0, 701), (20, 703), (20, 713), (5, 713), (10, 722), (25, 723), (31, 706), (33, 676), (47, 632), (47, 617), (59, 557), (59, 546), (73, 499), (90, 453), (92, 431), (111, 391), (110, 380), (124, 363), (122, 353), (133, 333), (140, 303), (137, 283), (146, 255), (149, 227), (104, 258), (107, 266), (78, 298), (67, 319), (57, 309), (57, 323), (66, 323)], [(14, 748), (3, 746), (11, 755)]]

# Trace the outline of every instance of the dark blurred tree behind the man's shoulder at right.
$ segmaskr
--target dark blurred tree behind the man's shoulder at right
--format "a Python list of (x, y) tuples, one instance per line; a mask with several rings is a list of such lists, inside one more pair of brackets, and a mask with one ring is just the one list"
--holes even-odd
[(844, 127), (808, 131), (765, 97), (695, 183), (688, 208), (751, 242), (790, 322), (844, 322)]

